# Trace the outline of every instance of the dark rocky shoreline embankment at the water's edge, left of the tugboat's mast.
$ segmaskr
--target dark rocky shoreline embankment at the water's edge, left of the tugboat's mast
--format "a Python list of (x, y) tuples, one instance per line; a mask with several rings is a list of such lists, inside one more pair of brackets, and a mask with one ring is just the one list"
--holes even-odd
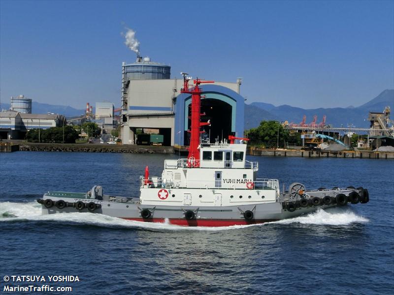
[(23, 143), (19, 150), (28, 151), (79, 151), (79, 152), (124, 152), (124, 153), (174, 153), (173, 147), (97, 145), (97, 144), (38, 144)]

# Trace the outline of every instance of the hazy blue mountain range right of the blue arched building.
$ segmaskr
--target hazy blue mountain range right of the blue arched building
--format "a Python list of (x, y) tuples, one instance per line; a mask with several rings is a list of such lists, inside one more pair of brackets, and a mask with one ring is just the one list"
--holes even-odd
[[(249, 106), (249, 107), (247, 107)], [(323, 116), (326, 115), (326, 123), (335, 127), (352, 124), (355, 127), (369, 128), (368, 112), (383, 112), (386, 106), (390, 106), (392, 110), (391, 118), (394, 114), (394, 90), (387, 89), (380, 93), (375, 98), (371, 99), (367, 103), (359, 107), (348, 107), (348, 108), (319, 108), (319, 109), (302, 109), (296, 108), (289, 105), (281, 105), (278, 107), (272, 104), (254, 102), (250, 105), (245, 105), (245, 129), (257, 127), (260, 121), (266, 120), (266, 118), (275, 117), (279, 121), (289, 121), (299, 123), (302, 121), (302, 117), (306, 115), (306, 122), (310, 123), (313, 120), (313, 116), (317, 115), (318, 122), (321, 122)], [(252, 107), (252, 108), (251, 108)], [(256, 108), (260, 108), (265, 113), (259, 115), (259, 111)], [(251, 111), (249, 111), (251, 110)], [(268, 114), (266, 113), (268, 112)], [(248, 118), (249, 124), (246, 124), (246, 118)]]

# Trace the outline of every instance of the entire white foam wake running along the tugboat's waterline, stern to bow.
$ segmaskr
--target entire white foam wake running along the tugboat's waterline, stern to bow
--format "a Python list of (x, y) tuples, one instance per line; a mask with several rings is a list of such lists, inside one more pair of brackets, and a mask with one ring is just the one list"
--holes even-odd
[[(70, 222), (83, 225), (95, 225), (107, 228), (139, 228), (149, 230), (170, 230), (170, 231), (223, 231), (233, 229), (243, 229), (253, 226), (263, 226), (263, 224), (233, 225), (226, 227), (185, 227), (172, 225), (168, 219), (164, 223), (141, 222), (125, 220), (103, 214), (92, 214), (89, 212), (41, 214), (41, 205), (32, 203), (0, 203), (0, 221), (32, 220), (32, 221), (54, 221)], [(315, 224), (315, 225), (348, 225), (351, 223), (363, 223), (369, 220), (357, 215), (350, 208), (331, 208), (328, 211), (318, 209), (316, 212), (305, 216), (298, 216), (266, 224)]]

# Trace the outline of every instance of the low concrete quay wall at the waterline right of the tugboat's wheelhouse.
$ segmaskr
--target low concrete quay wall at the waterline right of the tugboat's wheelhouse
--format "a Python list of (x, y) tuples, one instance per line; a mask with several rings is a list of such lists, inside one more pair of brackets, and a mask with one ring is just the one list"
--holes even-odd
[(390, 151), (248, 149), (247, 154), (253, 156), (273, 156), (273, 157), (394, 159), (394, 152), (390, 152)]

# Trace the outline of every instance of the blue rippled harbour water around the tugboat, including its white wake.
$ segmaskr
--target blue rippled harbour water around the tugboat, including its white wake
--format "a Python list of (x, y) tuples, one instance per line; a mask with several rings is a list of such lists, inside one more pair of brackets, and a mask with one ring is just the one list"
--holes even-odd
[(259, 161), (258, 177), (286, 186), (354, 185), (370, 193), (366, 205), (263, 225), (182, 228), (89, 213), (40, 216), (34, 202), (49, 190), (95, 184), (136, 196), (145, 165), (160, 175), (169, 157), (0, 154), (0, 292), (4, 275), (78, 275), (80, 282), (33, 285), (71, 286), (82, 295), (393, 294), (393, 160), (250, 157)]

